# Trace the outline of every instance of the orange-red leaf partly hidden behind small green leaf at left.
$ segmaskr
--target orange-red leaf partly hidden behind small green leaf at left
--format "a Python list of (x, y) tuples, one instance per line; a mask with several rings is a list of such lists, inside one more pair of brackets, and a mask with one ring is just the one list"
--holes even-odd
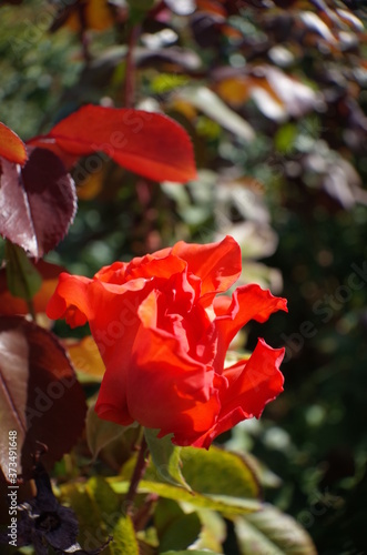
[[(42, 285), (32, 299), (33, 309), (35, 313), (45, 313), (45, 306), (58, 284), (59, 274), (63, 272), (64, 269), (57, 264), (44, 262), (43, 260), (35, 263), (34, 268), (42, 276)], [(14, 314), (28, 313), (29, 307), (27, 302), (18, 296), (13, 296), (9, 292), (7, 284), (7, 271), (4, 268), (0, 269), (0, 314), (12, 316)]]

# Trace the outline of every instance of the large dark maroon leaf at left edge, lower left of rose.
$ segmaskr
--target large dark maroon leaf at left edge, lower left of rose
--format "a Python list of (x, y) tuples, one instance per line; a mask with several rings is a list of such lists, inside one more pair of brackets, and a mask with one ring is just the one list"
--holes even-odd
[(21, 316), (0, 317), (0, 465), (9, 476), (8, 434), (17, 431), (18, 474), (29, 477), (37, 442), (52, 465), (84, 426), (84, 393), (65, 351), (47, 330)]

